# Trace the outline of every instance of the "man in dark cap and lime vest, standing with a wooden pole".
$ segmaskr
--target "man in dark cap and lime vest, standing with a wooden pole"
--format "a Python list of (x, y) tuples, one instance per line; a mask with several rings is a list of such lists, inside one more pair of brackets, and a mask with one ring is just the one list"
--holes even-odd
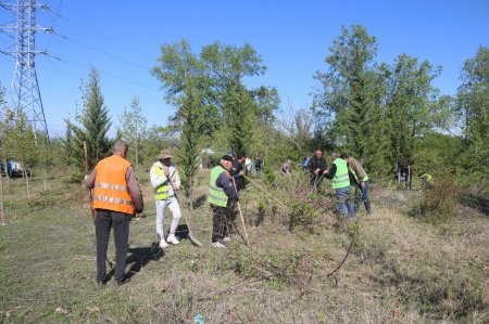
[(233, 157), (224, 155), (221, 165), (211, 171), (209, 181), (208, 202), (212, 208), (212, 246), (225, 247), (224, 238), (227, 237), (228, 222), (230, 222), (231, 211), (238, 196), (233, 184), (229, 170), (233, 167)]

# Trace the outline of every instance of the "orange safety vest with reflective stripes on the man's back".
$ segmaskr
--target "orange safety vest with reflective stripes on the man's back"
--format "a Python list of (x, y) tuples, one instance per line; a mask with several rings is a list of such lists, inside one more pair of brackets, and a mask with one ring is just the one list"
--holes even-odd
[(129, 166), (130, 163), (118, 155), (112, 155), (97, 164), (93, 209), (134, 213), (133, 199), (126, 183)]

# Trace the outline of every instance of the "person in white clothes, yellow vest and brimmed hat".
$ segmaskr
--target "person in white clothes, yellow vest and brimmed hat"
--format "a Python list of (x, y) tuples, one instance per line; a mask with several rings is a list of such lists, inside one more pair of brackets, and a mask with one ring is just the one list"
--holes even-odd
[[(156, 235), (160, 239), (160, 247), (165, 248), (172, 244), (178, 244), (175, 236), (178, 222), (181, 218), (180, 205), (175, 196), (175, 192), (180, 189), (180, 177), (178, 170), (172, 163), (172, 154), (170, 150), (162, 150), (160, 156), (150, 170), (151, 184), (154, 189), (154, 199), (156, 200)], [(172, 211), (173, 220), (170, 225), (168, 237), (164, 237), (163, 224), (165, 220), (165, 209)]]

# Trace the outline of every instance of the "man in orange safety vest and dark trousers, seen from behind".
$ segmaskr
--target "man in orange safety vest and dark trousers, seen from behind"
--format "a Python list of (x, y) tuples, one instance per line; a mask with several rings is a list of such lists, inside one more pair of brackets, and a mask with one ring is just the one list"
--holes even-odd
[(93, 189), (93, 209), (96, 210), (97, 237), (97, 284), (105, 284), (105, 259), (111, 228), (114, 228), (115, 281), (124, 285), (126, 276), (127, 242), (129, 222), (135, 212), (142, 216), (142, 193), (136, 173), (126, 160), (128, 145), (117, 140), (112, 147), (112, 156), (99, 161), (91, 172), (85, 176), (85, 185)]

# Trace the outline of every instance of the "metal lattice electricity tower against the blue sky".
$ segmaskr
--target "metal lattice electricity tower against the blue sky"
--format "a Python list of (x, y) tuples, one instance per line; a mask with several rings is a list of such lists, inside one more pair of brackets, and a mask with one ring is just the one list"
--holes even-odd
[(15, 70), (10, 88), (10, 106), (21, 109), (27, 117), (35, 134), (38, 131), (48, 135), (45, 109), (36, 74), (36, 54), (48, 55), (47, 52), (36, 51), (36, 33), (52, 33), (51, 28), (36, 25), (37, 8), (46, 9), (37, 0), (17, 0), (17, 4), (4, 4), (1, 7), (16, 11), (16, 24), (2, 27), (1, 30), (16, 33), (16, 48), (13, 52), (2, 51), (15, 57)]

